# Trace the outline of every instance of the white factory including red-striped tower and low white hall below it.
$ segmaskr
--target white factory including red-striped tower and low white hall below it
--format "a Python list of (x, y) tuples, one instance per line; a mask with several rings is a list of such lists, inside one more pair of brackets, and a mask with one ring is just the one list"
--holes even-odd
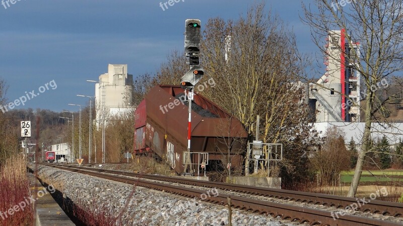
[[(325, 73), (317, 84), (308, 85), (308, 103), (314, 112), (314, 127), (320, 136), (324, 136), (327, 128), (335, 126), (345, 133), (346, 144), (353, 138), (357, 145), (361, 145), (365, 126), (361, 123), (359, 108), (361, 76), (353, 69), (360, 60), (360, 43), (349, 44), (347, 40), (345, 30), (328, 32), (323, 59)], [(402, 131), (402, 123), (372, 123), (371, 139), (385, 136), (390, 144), (396, 144), (399, 139), (403, 140)]]

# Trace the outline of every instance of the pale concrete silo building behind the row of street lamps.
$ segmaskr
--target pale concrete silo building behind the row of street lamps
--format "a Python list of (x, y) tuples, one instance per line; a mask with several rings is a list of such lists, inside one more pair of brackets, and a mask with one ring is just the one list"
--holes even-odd
[(95, 84), (95, 107), (97, 127), (109, 116), (122, 114), (130, 108), (131, 88), (133, 75), (127, 74), (127, 64), (109, 64), (108, 72), (99, 76), (99, 82)]

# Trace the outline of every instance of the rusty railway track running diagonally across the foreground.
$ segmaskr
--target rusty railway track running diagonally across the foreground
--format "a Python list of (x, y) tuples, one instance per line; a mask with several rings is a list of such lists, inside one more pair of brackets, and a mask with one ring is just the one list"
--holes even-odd
[[(136, 184), (142, 187), (163, 190), (169, 193), (179, 194), (186, 197), (200, 197), (200, 195), (205, 194), (207, 190), (188, 188), (184, 186), (171, 185), (156, 181), (148, 181), (144, 179), (194, 185), (205, 188), (217, 188), (222, 190), (276, 197), (280, 199), (289, 199), (308, 203), (323, 204), (335, 207), (345, 207), (351, 205), (352, 203), (357, 203), (357, 201), (359, 201), (356, 198), (348, 198), (334, 195), (298, 192), (298, 191), (281, 190), (281, 189), (270, 189), (270, 188), (219, 183), (211, 181), (198, 181), (185, 178), (147, 175), (141, 173), (131, 173), (116, 170), (104, 170), (104, 169), (77, 167), (77, 166), (60, 166), (55, 164), (43, 164), (43, 165), (58, 169), (70, 170), (73, 172), (83, 173), (105, 179), (110, 179), (114, 181), (119, 181), (123, 183)], [(115, 175), (108, 175), (104, 173)], [(126, 176), (137, 178), (128, 178)], [(271, 201), (256, 200), (252, 198), (245, 198), (228, 194), (219, 194), (217, 197), (211, 196), (207, 198), (206, 201), (225, 205), (227, 203), (227, 198), (229, 196), (231, 197), (231, 205), (235, 208), (249, 210), (262, 214), (270, 214), (274, 217), (281, 216), (281, 218), (283, 219), (290, 219), (292, 221), (298, 221), (300, 223), (307, 222), (310, 225), (402, 225), (392, 221), (385, 221), (380, 219), (373, 219), (369, 217), (362, 217), (348, 214), (344, 216), (338, 215), (339, 218), (334, 219), (329, 211), (300, 207), (289, 204), (275, 203)], [(401, 203), (371, 200), (371, 202), (364, 204), (364, 202), (367, 202), (368, 200), (365, 201), (364, 199), (361, 201), (363, 203), (362, 208), (360, 209), (361, 211), (371, 211), (373, 213), (389, 214), (392, 216), (401, 216), (401, 212), (403, 211), (403, 204)]]

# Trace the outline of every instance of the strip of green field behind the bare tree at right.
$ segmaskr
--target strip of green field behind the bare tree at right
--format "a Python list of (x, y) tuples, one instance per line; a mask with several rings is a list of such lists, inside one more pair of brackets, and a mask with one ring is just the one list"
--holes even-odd
[[(351, 182), (353, 174), (354, 170), (343, 172), (341, 175), (342, 183)], [(376, 181), (403, 181), (403, 170), (365, 170), (362, 172), (360, 182)]]

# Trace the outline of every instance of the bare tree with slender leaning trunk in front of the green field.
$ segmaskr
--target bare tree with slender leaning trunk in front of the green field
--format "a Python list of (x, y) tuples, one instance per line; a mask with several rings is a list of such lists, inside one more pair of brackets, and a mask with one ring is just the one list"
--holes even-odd
[[(361, 148), (355, 168), (353, 180), (348, 196), (353, 197), (357, 192), (360, 181), (364, 158), (369, 150), (372, 122), (385, 121), (385, 115), (380, 114), (381, 119), (376, 117), (376, 112), (383, 111), (385, 104), (393, 103), (402, 92), (399, 89), (396, 93), (389, 93), (384, 99), (376, 95), (379, 92), (380, 83), (390, 82), (392, 76), (403, 70), (403, 1), (402, 0), (361, 0), (344, 1), (343, 4), (331, 0), (315, 0), (315, 9), (303, 5), (305, 18), (303, 21), (311, 26), (312, 36), (316, 44), (324, 52), (320, 40), (328, 35), (328, 32), (335, 29), (346, 31), (346, 44), (351, 52), (343, 56), (346, 62), (354, 62), (349, 65), (361, 74), (366, 87), (363, 93), (366, 102), (361, 107), (364, 111), (365, 129), (361, 141)], [(354, 43), (359, 41), (362, 50), (359, 53), (354, 49)], [(340, 46), (344, 49), (344, 46)], [(320, 84), (318, 84), (320, 85)], [(322, 86), (323, 87), (323, 86)], [(364, 87), (364, 88), (365, 88)], [(382, 87), (387, 87), (384, 85)], [(325, 88), (325, 87), (324, 87)], [(340, 93), (341, 94), (341, 93)], [(346, 98), (349, 98), (346, 95)], [(355, 106), (358, 106), (357, 102)], [(390, 125), (389, 125), (390, 126)]]

